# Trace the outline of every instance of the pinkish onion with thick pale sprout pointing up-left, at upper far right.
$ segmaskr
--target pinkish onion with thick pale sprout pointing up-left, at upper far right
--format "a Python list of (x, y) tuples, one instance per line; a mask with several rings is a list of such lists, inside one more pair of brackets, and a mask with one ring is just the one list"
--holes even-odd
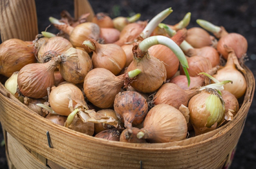
[(228, 59), (228, 52), (224, 46), (232, 48), (239, 59), (246, 55), (248, 42), (241, 34), (228, 33), (223, 26), (214, 26), (214, 24), (203, 19), (197, 19), (196, 22), (219, 38), (217, 50), (223, 55), (223, 58)]

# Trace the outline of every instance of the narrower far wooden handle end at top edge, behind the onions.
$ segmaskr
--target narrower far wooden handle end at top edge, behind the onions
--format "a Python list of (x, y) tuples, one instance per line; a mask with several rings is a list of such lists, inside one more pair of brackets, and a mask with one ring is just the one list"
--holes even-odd
[(93, 8), (91, 8), (91, 4), (87, 0), (74, 0), (74, 16), (75, 19), (78, 19), (82, 14), (90, 13), (87, 18), (88, 21), (92, 21), (94, 17)]

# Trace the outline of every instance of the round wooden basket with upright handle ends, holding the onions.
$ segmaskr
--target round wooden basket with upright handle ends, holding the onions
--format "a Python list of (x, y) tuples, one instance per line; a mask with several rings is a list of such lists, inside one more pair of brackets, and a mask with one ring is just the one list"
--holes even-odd
[[(37, 17), (33, 0), (1, 1), (0, 5), (1, 16), (6, 16), (0, 21), (7, 23), (0, 26), (2, 41), (14, 37), (35, 39)], [(30, 23), (20, 21), (28, 13), (15, 8), (25, 5)], [(75, 16), (80, 15), (79, 11), (84, 13), (82, 6), (88, 8), (86, 11), (91, 9), (88, 1), (77, 0)], [(26, 30), (13, 34), (10, 23), (15, 24), (11, 28), (24, 23)], [(247, 90), (234, 120), (203, 135), (172, 143), (107, 141), (64, 128), (29, 110), (4, 88), (5, 79), (1, 79), (0, 121), (9, 168), (223, 168), (239, 141), (255, 91), (253, 73), (246, 66), (244, 69)]]

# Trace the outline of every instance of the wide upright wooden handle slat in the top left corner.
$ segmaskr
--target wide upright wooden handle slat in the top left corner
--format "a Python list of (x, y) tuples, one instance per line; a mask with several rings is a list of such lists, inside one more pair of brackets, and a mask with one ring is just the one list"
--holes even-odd
[(0, 1), (1, 40), (17, 38), (33, 41), (38, 34), (34, 0)]

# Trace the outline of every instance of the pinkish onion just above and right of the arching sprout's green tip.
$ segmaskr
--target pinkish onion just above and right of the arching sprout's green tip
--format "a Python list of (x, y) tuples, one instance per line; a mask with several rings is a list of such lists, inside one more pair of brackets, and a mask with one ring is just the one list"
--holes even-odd
[[(205, 57), (194, 55), (193, 57), (187, 57), (187, 60), (190, 77), (196, 77), (200, 72), (208, 72), (208, 70), (212, 69), (210, 60)], [(181, 66), (180, 70), (181, 74), (185, 74), (184, 70), (181, 69)]]

